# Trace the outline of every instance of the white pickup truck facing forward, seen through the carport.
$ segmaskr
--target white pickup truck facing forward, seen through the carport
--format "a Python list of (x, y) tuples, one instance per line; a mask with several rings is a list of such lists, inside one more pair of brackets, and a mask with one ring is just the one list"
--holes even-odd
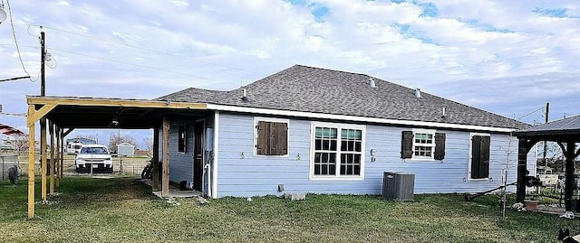
[(77, 173), (112, 173), (112, 159), (105, 145), (82, 145), (74, 159)]

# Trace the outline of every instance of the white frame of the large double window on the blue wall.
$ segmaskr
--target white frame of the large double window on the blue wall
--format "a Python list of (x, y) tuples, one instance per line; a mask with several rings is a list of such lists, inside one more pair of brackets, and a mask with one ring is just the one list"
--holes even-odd
[[(333, 175), (320, 175), (314, 174), (314, 153), (315, 150), (315, 132), (316, 127), (329, 127), (329, 128), (336, 128), (337, 129), (337, 145), (336, 145), (336, 165), (335, 165), (335, 174)], [(353, 152), (349, 151), (342, 151), (341, 150), (341, 138), (342, 138), (342, 130), (343, 129), (353, 129), (353, 130), (361, 130), (361, 169), (359, 175), (341, 175), (341, 154), (353, 154)], [(364, 180), (364, 166), (366, 164), (365, 161), (365, 145), (366, 145), (366, 126), (364, 125), (353, 125), (353, 124), (342, 124), (342, 123), (328, 123), (328, 122), (311, 122), (310, 125), (310, 160), (309, 160), (309, 179), (310, 180)], [(343, 152), (343, 153), (341, 153)], [(357, 152), (358, 154), (359, 152)]]

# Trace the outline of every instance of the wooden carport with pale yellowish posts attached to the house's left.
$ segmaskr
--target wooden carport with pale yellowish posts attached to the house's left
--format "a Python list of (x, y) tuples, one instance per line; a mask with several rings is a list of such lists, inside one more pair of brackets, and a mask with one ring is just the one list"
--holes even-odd
[[(28, 104), (28, 218), (34, 218), (34, 133), (35, 124), (40, 123), (40, 157), (42, 166), (42, 200), (46, 201), (47, 191), (54, 194), (55, 170), (56, 186), (63, 178), (63, 141), (75, 128), (114, 129), (154, 129), (153, 137), (153, 182), (152, 190), (159, 191), (160, 131), (162, 131), (161, 151), (163, 152), (161, 171), (161, 196), (169, 196), (169, 119), (187, 116), (192, 110), (206, 110), (206, 104), (145, 99), (121, 98), (72, 98), (72, 97), (26, 97)], [(51, 138), (50, 152), (47, 152), (48, 136)], [(56, 143), (55, 143), (56, 142)], [(47, 164), (48, 158), (50, 165)], [(47, 178), (47, 169), (51, 172)], [(47, 185), (47, 182), (50, 182)]]

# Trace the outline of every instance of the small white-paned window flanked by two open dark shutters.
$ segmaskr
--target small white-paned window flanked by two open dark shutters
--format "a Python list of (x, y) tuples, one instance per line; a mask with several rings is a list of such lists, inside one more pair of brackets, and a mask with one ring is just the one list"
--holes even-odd
[(413, 129), (403, 131), (401, 158), (415, 160), (443, 160), (445, 158), (445, 134), (435, 130)]

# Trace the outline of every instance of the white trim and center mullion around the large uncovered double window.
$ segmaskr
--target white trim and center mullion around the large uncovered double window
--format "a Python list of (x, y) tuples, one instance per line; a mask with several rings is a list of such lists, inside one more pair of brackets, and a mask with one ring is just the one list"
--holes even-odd
[[(356, 129), (362, 131), (362, 145), (361, 145), (361, 175), (340, 175), (336, 173), (335, 175), (314, 175), (314, 133), (316, 126), (333, 127), (338, 129), (338, 139), (340, 142), (340, 137), (342, 136), (341, 129)], [(366, 126), (364, 125), (351, 125), (342, 123), (330, 123), (330, 122), (311, 122), (310, 125), (310, 168), (309, 168), (309, 179), (314, 181), (360, 181), (364, 180), (364, 165), (365, 165), (365, 145), (366, 145)], [(337, 145), (340, 148), (340, 144)], [(340, 168), (340, 156), (337, 156), (336, 168)]]

